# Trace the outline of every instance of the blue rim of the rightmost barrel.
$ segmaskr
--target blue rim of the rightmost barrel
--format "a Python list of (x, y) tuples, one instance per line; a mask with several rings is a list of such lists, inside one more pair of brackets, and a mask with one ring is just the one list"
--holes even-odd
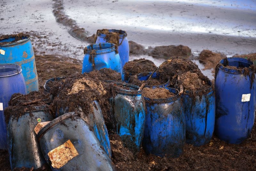
[[(242, 62), (245, 62), (245, 63), (248, 63), (248, 64), (251, 64), (251, 65), (253, 65), (253, 62), (252, 61), (250, 61), (250, 60), (248, 60), (248, 59), (246, 59), (246, 58), (239, 58), (239, 57), (230, 57), (230, 58), (227, 58), (228, 59), (228, 61), (236, 61), (236, 60), (238, 60), (238, 61), (242, 61)], [(232, 59), (235, 59), (235, 60), (232, 60)], [(223, 64), (223, 62), (224, 62), (224, 59), (222, 59), (222, 60), (220, 60), (220, 64)], [(223, 65), (219, 65), (219, 67), (218, 67), (221, 71), (223, 71), (223, 72), (226, 72), (226, 73), (230, 73), (230, 74), (244, 74), (244, 69), (242, 69), (242, 70), (238, 70), (238, 69), (230, 69), (230, 68), (227, 68), (227, 67), (224, 67)]]

